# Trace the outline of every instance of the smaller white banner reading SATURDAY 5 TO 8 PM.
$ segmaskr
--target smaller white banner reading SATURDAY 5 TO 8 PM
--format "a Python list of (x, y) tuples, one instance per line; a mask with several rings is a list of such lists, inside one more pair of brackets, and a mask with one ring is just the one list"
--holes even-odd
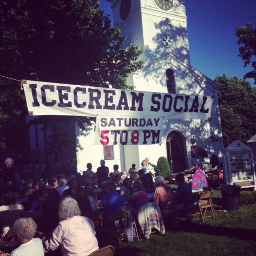
[(126, 118), (98, 115), (96, 145), (148, 145), (161, 143), (162, 118)]

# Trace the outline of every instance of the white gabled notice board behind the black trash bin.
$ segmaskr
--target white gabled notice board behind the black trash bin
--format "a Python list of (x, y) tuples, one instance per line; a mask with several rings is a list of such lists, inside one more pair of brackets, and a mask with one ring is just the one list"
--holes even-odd
[(225, 183), (256, 190), (251, 148), (240, 141), (234, 141), (223, 150), (223, 154)]

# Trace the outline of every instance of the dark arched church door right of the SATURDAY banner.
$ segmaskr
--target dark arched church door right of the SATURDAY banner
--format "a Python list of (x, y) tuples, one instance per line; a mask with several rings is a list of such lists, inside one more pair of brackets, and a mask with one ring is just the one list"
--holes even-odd
[(167, 157), (172, 173), (186, 169), (184, 139), (179, 132), (172, 131), (167, 136)]

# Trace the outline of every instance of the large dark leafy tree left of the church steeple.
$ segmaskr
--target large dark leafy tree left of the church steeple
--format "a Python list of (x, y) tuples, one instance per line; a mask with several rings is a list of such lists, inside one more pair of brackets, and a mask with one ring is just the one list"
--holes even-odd
[[(134, 44), (122, 49), (124, 40), (98, 0), (0, 0), (2, 76), (130, 89), (126, 78), (142, 68), (137, 61), (142, 50)], [(18, 122), (27, 113), (25, 97), (14, 80), (0, 77), (0, 90), (0, 147), (17, 149), (15, 129), (25, 133)], [(79, 117), (40, 117), (37, 122), (56, 129), (60, 120), (82, 129), (91, 122)]]

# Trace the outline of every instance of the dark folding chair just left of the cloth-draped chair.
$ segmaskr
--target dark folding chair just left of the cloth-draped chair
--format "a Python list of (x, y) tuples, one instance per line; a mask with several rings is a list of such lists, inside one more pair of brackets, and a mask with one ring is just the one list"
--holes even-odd
[[(126, 211), (119, 210), (111, 214), (107, 220), (107, 234), (109, 240), (116, 239), (119, 246), (121, 246), (121, 241), (126, 240), (130, 246), (130, 242), (127, 236), (124, 221), (126, 219)], [(117, 245), (117, 242), (115, 245)]]

